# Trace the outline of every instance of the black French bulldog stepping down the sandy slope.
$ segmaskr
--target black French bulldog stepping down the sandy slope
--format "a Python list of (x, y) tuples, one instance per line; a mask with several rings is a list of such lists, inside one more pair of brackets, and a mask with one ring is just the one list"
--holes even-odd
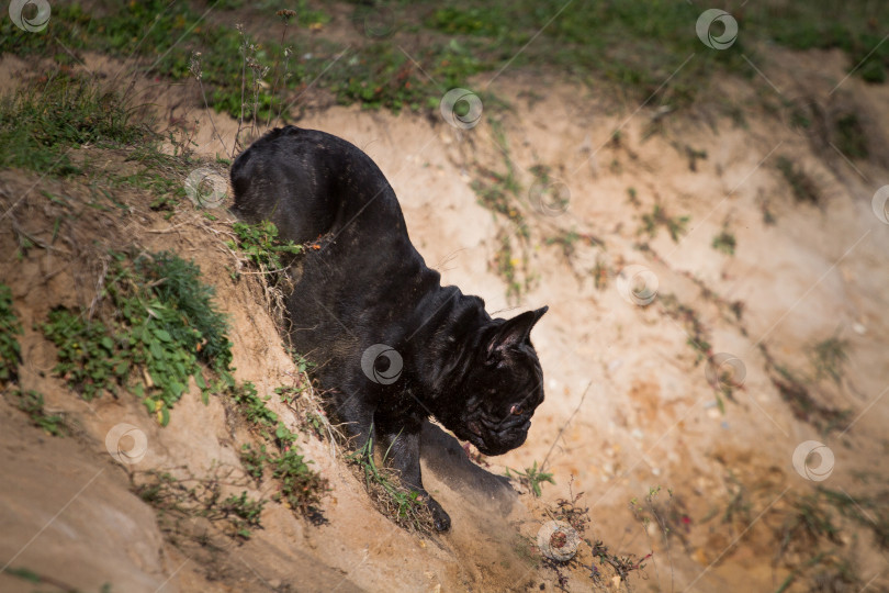
[(529, 334), (548, 307), (491, 318), (479, 296), (442, 287), (410, 244), (382, 171), (337, 136), (275, 128), (238, 156), (232, 186), (239, 217), (315, 242), (292, 270), (293, 346), (318, 365), (359, 446), (378, 441), (375, 433), (436, 528), (448, 529), (420, 479), (423, 421), (435, 416), (485, 455), (525, 443), (543, 401)]

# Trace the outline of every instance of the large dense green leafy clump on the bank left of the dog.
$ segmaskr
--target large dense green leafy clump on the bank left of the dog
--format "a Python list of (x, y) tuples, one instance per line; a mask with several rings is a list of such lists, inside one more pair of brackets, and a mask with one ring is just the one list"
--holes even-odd
[(41, 325), (57, 348), (54, 372), (85, 399), (123, 388), (166, 425), (189, 379), (206, 402), (202, 362), (220, 378), (217, 390), (232, 384), (226, 321), (193, 262), (167, 251), (112, 253), (102, 296), (104, 322), (89, 320), (86, 309), (57, 307)]

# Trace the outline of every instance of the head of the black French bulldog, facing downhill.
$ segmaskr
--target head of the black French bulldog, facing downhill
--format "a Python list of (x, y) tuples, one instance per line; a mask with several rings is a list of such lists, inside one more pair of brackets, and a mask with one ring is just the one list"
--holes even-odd
[(459, 398), (439, 419), (484, 455), (502, 455), (528, 437), (543, 401), (543, 371), (530, 334), (548, 307), (483, 327), (460, 382)]

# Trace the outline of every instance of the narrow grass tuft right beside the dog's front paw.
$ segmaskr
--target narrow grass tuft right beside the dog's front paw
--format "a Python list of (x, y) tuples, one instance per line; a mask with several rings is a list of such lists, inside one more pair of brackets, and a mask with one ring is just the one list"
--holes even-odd
[(430, 534), (435, 522), (432, 513), (419, 493), (402, 485), (398, 475), (385, 465), (389, 451), (383, 455), (383, 465), (378, 466), (373, 458), (373, 439), (347, 457), (364, 478), (368, 493), (378, 508), (398, 526), (421, 534)]

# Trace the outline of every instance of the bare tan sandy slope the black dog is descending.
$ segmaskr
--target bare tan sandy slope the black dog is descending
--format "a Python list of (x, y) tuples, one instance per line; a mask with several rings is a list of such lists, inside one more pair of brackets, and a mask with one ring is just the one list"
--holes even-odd
[[(780, 105), (781, 97), (769, 97), (774, 91), (762, 81), (725, 80), (719, 89), (727, 101), (742, 107), (744, 126), (716, 109), (697, 108), (660, 119), (662, 127), (650, 135), (655, 113), (649, 109), (618, 105), (558, 81), (541, 86), (519, 75), (498, 80), (492, 90), (508, 98), (511, 110), (494, 118), (503, 126), (508, 158), (524, 188), (516, 208), (531, 227), (528, 269), (533, 279), (517, 303), (507, 299), (506, 286), (492, 266), (498, 233), (514, 230), (480, 205), (470, 186), (477, 165), (506, 168), (489, 122), (457, 131), (441, 121), (357, 108), (310, 112), (300, 122), (338, 134), (376, 160), (401, 199), (415, 245), (447, 282), (480, 294), (488, 311), (504, 316), (550, 305), (533, 334), (547, 400), (528, 443), (488, 460), (489, 470), (497, 474), (504, 466), (525, 468), (547, 459), (556, 480), (555, 486), (544, 485), (549, 502), (566, 496), (573, 479), (573, 491), (585, 492), (583, 501), (590, 506), (592, 537), (612, 551), (654, 551), (645, 579), (631, 581), (640, 591), (683, 591), (688, 585), (697, 591), (777, 589), (791, 568), (810, 558), (803, 547), (776, 560), (791, 501), (818, 485), (791, 465), (801, 441), (822, 441), (835, 456), (833, 473), (822, 485), (855, 497), (886, 489), (889, 225), (875, 215), (871, 197), (889, 182), (889, 92), (851, 78), (829, 94), (844, 72), (835, 54), (775, 59), (781, 67), (765, 74), (785, 99), (811, 97), (826, 111), (862, 115), (868, 123), (869, 159), (849, 164), (829, 138), (791, 130), (784, 110), (763, 107)], [(189, 107), (190, 101), (173, 101), (172, 92), (155, 93), (161, 104), (166, 99), (183, 105), (171, 108), (171, 118), (200, 120), (199, 153), (222, 152), (206, 113)], [(213, 118), (230, 149), (236, 123)], [(620, 130), (617, 143), (609, 142), (615, 130)], [(707, 156), (693, 163), (688, 149)], [(795, 202), (776, 169), (780, 155), (817, 180), (820, 208)], [(541, 215), (529, 205), (529, 170), (534, 165), (549, 166), (570, 189), (564, 213)], [(4, 209), (35, 180), (3, 172)], [(65, 191), (55, 181), (40, 183)], [(637, 204), (628, 198), (630, 188)], [(165, 222), (148, 212), (139, 197), (124, 199), (137, 214), (130, 227), (103, 235), (97, 228), (71, 231), (70, 248), (82, 240), (78, 233), (97, 233), (108, 246), (136, 237), (146, 247), (175, 248), (194, 258), (234, 317), (238, 378), (255, 381), (263, 393), (292, 382), (293, 365), (262, 306), (258, 283), (228, 279), (224, 266), (234, 265), (234, 259), (221, 247), (218, 230), (209, 230), (190, 206)], [(690, 216), (688, 232), (674, 242), (661, 228), (648, 240), (649, 248), (640, 249), (646, 240), (638, 233), (641, 216), (655, 201), (672, 216)], [(40, 199), (32, 195), (23, 208), (21, 222), (45, 231), (49, 213)], [(764, 221), (764, 209), (774, 215), (774, 225)], [(734, 256), (711, 247), (723, 225), (736, 238)], [(548, 245), (547, 238), (571, 231), (595, 236), (604, 245), (579, 240), (570, 256), (559, 245)], [(5, 223), (0, 239), (3, 251), (13, 253)], [(603, 289), (593, 281), (597, 260), (607, 267)], [(74, 302), (77, 294), (87, 296), (89, 286), (76, 284), (78, 275), (67, 269), (69, 264), (64, 254), (40, 250), (22, 262), (8, 257), (0, 264), (26, 327), (48, 306)], [(659, 296), (648, 306), (628, 301), (617, 288), (617, 275), (629, 265), (644, 266), (657, 279)], [(731, 309), (734, 302), (743, 303), (740, 321)], [(687, 324), (671, 315), (673, 303), (697, 313), (712, 354), (728, 353), (743, 363), (743, 387), (734, 401), (725, 402), (724, 414), (716, 405), (706, 361), (697, 360), (687, 344)], [(839, 384), (815, 380), (811, 365), (814, 344), (832, 336), (848, 340), (848, 362)], [(111, 582), (114, 591), (160, 585), (181, 591), (553, 586), (551, 572), (532, 568), (536, 552), (529, 552), (518, 535), (536, 533), (539, 504), (528, 495), (515, 504), (515, 495), (469, 466), (457, 449), (426, 459), (429, 484), (454, 519), (452, 533), (444, 536), (419, 538), (389, 523), (371, 507), (341, 461), (313, 438), (304, 448), (334, 484), (325, 526), (312, 526), (270, 505), (263, 515), (266, 528), (243, 546), (223, 536), (216, 536), (216, 551), (193, 541), (165, 540), (150, 508), (128, 491), (126, 470), (132, 468), (105, 454), (104, 434), (119, 422), (130, 422), (145, 430), (150, 444), (138, 469), (188, 466), (201, 472), (214, 460), (237, 465), (235, 444), (247, 438), (245, 427), (233, 425), (218, 401), (205, 407), (193, 394), (162, 429), (123, 399), (78, 401), (49, 378), (52, 347), (31, 329), (23, 345), (23, 383), (46, 393), (50, 407), (75, 417), (80, 433), (74, 439), (52, 439), (23, 427), (23, 416), (11, 406), (0, 407), (0, 471), (14, 477), (0, 493), (0, 558), (9, 559), (25, 546), (15, 566), (52, 568), (85, 590), (97, 590), (103, 582)], [(804, 378), (821, 405), (848, 409), (851, 415), (826, 436), (812, 422), (796, 417), (773, 381), (775, 365)], [(284, 417), (295, 419), (279, 407)], [(674, 512), (659, 506), (669, 521), (667, 538), (656, 523), (646, 529), (628, 508), (631, 499), (642, 500), (655, 485), (664, 489), (659, 504), (665, 502), (666, 489), (673, 491)], [(729, 514), (733, 504), (745, 512)], [(889, 586), (885, 555), (870, 532), (843, 525), (842, 553), (854, 559), (858, 586)], [(800, 578), (792, 586), (802, 591), (809, 584)], [(20, 586), (0, 574), (3, 590)], [(571, 586), (575, 591), (592, 585), (573, 574)]]

